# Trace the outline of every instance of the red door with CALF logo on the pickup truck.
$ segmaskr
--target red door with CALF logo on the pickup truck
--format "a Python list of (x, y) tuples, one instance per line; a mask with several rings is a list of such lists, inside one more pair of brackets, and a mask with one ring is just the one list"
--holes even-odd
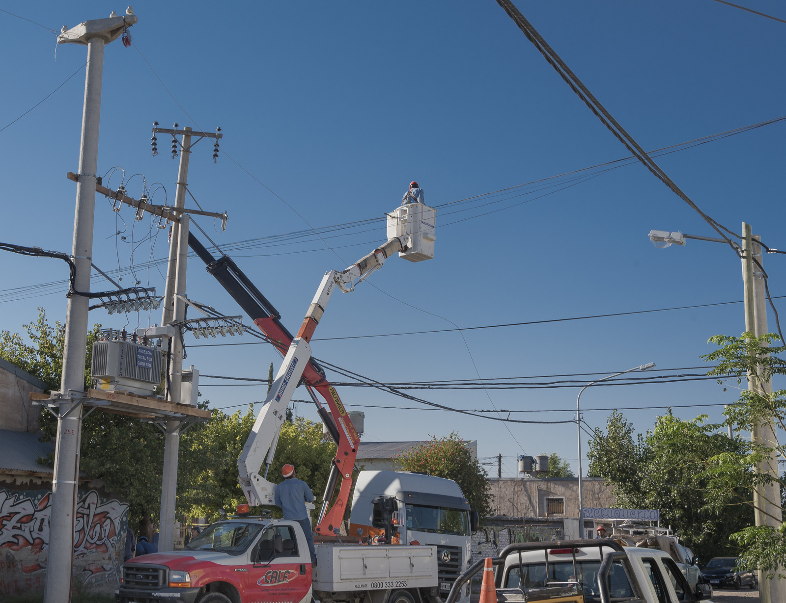
[(252, 551), (246, 601), (300, 603), (310, 599), (311, 558), (291, 525), (271, 525)]

